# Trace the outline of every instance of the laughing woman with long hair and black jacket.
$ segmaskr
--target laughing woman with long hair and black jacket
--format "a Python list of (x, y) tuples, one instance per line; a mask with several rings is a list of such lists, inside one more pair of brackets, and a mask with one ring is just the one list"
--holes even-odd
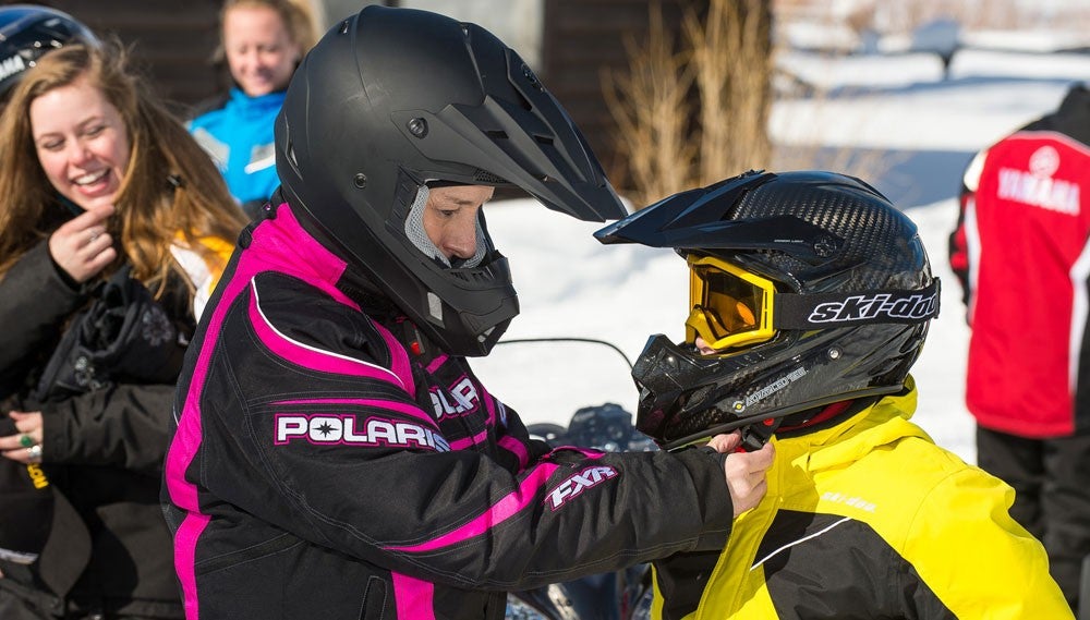
[(0, 121), (0, 454), (39, 464), (80, 516), (50, 536), (89, 548), (0, 557), (5, 620), (182, 617), (158, 499), (173, 384), (245, 218), (116, 47), (47, 54)]

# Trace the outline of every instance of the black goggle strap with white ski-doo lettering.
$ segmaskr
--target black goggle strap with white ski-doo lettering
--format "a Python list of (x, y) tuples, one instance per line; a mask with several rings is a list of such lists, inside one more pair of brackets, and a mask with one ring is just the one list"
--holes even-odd
[(885, 289), (863, 293), (777, 293), (776, 329), (828, 329), (880, 323), (923, 323), (938, 316), (941, 285), (916, 291)]

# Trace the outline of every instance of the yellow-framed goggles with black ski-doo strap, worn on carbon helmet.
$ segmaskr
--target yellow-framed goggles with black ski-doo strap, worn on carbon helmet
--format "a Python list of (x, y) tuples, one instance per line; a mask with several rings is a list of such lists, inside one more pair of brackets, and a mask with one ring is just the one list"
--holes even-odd
[(780, 329), (923, 323), (938, 316), (940, 282), (918, 290), (782, 293), (773, 280), (714, 256), (690, 254), (686, 341), (719, 351), (759, 344)]

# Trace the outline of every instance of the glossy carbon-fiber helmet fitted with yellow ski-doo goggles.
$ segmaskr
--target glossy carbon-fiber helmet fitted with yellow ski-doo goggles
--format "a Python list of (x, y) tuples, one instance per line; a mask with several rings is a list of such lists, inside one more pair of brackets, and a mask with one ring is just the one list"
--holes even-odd
[(632, 372), (637, 426), (667, 449), (901, 390), (938, 313), (916, 224), (843, 174), (749, 172), (595, 236), (689, 264), (686, 342), (653, 336)]

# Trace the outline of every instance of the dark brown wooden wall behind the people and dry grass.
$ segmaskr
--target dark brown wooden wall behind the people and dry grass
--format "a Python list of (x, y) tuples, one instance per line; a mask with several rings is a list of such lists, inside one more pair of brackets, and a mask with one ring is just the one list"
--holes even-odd
[[(469, 1), (469, 0), (468, 0)], [(628, 66), (625, 41), (646, 36), (651, 0), (541, 0), (545, 4), (538, 73), (583, 130), (607, 172), (617, 170), (614, 121), (602, 94), (602, 74)], [(665, 23), (679, 29), (682, 7), (707, 0), (658, 0)], [(4, 4), (13, 2), (2, 2)], [(213, 66), (221, 0), (46, 0), (97, 34), (116, 34), (132, 47), (160, 95), (184, 112), (221, 94), (229, 82)], [(387, 2), (397, 4), (397, 2)], [(361, 3), (362, 5), (362, 3)]]

